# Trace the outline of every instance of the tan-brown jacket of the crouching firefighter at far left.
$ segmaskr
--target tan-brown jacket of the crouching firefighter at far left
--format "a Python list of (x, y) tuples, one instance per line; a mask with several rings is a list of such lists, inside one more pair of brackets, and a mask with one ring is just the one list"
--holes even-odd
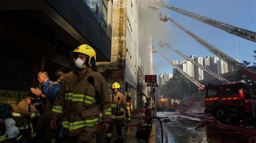
[(29, 105), (25, 100), (18, 103), (12, 113), (12, 118), (16, 121), (16, 126), (19, 130), (28, 129), (29, 122), (38, 116), (38, 112), (34, 105)]

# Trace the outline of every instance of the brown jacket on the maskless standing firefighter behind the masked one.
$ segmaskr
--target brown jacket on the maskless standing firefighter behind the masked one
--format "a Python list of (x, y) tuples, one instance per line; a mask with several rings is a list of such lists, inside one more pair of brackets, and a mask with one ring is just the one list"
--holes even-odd
[(113, 121), (123, 120), (124, 119), (124, 111), (126, 108), (126, 99), (123, 94), (117, 91), (117, 94), (112, 94), (110, 96), (111, 101), (111, 119)]

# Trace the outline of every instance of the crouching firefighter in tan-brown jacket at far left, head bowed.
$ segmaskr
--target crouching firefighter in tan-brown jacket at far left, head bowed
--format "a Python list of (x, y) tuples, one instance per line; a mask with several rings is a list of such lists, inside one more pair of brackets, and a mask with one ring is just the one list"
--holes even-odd
[(31, 121), (40, 115), (36, 110), (36, 107), (32, 104), (35, 101), (35, 98), (35, 95), (29, 94), (25, 100), (18, 103), (12, 113), (12, 118), (15, 119), (16, 126), (27, 141), (29, 141), (30, 138), (35, 137), (36, 133), (34, 132), (35, 129), (33, 128)]

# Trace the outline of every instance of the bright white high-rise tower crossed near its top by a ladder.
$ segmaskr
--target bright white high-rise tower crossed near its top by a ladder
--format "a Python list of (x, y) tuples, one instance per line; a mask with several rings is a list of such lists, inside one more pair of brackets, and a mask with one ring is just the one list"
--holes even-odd
[[(203, 65), (203, 58), (201, 56), (190, 56), (191, 59), (199, 63), (200, 65)], [(194, 78), (197, 81), (204, 80), (204, 70), (194, 65)]]

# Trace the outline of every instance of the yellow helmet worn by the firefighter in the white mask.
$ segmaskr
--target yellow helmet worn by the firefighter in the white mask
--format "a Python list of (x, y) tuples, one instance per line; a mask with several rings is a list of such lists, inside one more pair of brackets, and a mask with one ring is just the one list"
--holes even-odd
[(73, 51), (73, 54), (77, 54), (77, 53), (82, 53), (88, 56), (89, 60), (86, 59), (86, 64), (88, 64), (90, 67), (95, 65), (96, 52), (91, 46), (87, 44), (80, 45)]

